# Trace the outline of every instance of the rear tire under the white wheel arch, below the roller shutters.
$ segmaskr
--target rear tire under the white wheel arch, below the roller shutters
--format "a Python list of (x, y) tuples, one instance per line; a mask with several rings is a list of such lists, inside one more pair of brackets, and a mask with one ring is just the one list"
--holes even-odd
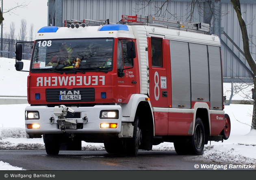
[(195, 155), (203, 154), (204, 140), (205, 140), (204, 124), (201, 118), (196, 118), (194, 134), (191, 137), (190, 154), (195, 154)]

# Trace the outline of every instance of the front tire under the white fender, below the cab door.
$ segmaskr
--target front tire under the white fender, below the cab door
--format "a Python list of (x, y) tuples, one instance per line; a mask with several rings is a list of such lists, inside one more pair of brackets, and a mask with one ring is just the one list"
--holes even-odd
[(139, 124), (139, 117), (136, 116), (133, 124), (133, 137), (128, 138), (126, 141), (126, 155), (137, 156), (139, 152), (139, 146), (141, 144), (142, 133)]

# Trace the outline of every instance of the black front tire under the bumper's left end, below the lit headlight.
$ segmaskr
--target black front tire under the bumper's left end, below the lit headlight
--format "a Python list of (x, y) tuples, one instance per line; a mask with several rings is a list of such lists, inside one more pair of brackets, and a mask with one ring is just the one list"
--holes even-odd
[(55, 134), (44, 134), (44, 144), (48, 155), (58, 155), (60, 151), (60, 137)]

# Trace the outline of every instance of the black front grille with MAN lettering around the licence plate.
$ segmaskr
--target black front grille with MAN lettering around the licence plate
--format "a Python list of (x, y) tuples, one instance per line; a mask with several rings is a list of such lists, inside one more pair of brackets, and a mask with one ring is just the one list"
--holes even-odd
[[(79, 92), (81, 94), (81, 100), (59, 100), (61, 92)], [(58, 88), (58, 89), (46, 89), (46, 101), (49, 103), (55, 102), (93, 102), (95, 101), (95, 89), (94, 88)]]

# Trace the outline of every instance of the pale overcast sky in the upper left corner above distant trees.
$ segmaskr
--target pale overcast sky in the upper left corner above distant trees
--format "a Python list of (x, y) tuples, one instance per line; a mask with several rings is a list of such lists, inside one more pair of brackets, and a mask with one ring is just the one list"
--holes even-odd
[[(3, 9), (2, 9), (3, 2)], [(21, 19), (26, 19), (27, 22), (27, 34), (29, 38), (30, 25), (34, 24), (33, 37), (35, 33), (43, 26), (48, 25), (48, 0), (0, 0), (2, 12), (7, 12), (9, 9), (19, 5), (27, 4), (26, 7), (14, 9), (13, 13), (4, 13), (3, 21), (3, 34), (10, 34), (10, 24), (15, 23), (15, 36), (18, 36), (20, 32)], [(3, 35), (4, 37), (4, 35)], [(18, 38), (17, 38), (18, 39)]]

